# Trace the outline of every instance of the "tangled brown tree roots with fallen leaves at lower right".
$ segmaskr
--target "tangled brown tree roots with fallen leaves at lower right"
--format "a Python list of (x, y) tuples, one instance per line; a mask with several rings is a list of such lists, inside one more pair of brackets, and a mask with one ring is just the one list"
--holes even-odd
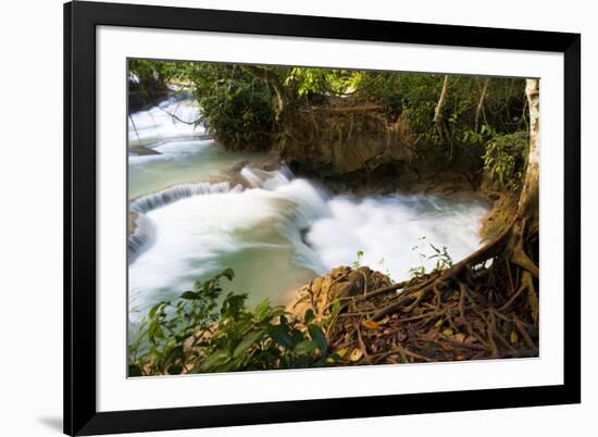
[(537, 357), (537, 232), (515, 220), (449, 269), (341, 298), (328, 345), (363, 350), (344, 364)]

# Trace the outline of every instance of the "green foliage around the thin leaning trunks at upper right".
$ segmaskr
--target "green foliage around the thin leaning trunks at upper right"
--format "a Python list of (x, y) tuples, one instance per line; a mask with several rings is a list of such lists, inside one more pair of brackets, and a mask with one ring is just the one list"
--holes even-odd
[[(449, 76), (448, 93), (441, 111), (441, 132), (434, 125), (434, 111), (444, 75), (428, 73), (367, 73), (373, 77), (364, 92), (385, 104), (391, 116), (402, 114), (413, 132), (428, 141), (462, 146), (482, 145), (487, 138), (483, 126), (512, 133), (526, 123), (524, 80), (489, 78), (483, 105), (477, 114), (485, 78)], [(365, 82), (365, 80), (364, 80)]]

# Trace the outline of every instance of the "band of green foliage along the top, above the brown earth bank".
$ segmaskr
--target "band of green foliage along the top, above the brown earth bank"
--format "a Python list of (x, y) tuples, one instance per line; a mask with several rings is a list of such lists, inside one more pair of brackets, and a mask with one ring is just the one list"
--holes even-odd
[[(520, 159), (501, 160), (504, 153), (499, 149), (507, 151), (510, 146), (500, 138), (528, 129), (525, 80), (520, 78), (448, 76), (435, 123), (444, 74), (148, 60), (130, 60), (129, 72), (139, 79), (138, 91), (146, 98), (151, 84), (157, 88), (166, 83), (190, 84), (201, 107), (201, 121), (231, 149), (271, 149), (274, 145), (285, 149), (285, 123), (292, 123), (292, 111), (304, 105), (376, 103), (388, 121), (400, 117), (408, 124), (421, 145), (418, 157), (434, 159), (429, 154), (434, 151), (452, 159), (462, 151), (475, 157), (472, 162), (479, 170), (484, 157), (493, 180), (503, 187), (501, 179), (520, 170)], [(281, 96), (288, 111), (285, 120), (279, 117)]]

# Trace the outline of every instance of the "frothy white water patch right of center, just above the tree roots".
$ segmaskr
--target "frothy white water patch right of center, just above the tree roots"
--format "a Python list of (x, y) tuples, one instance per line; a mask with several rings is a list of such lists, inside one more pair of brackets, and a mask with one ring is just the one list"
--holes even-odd
[(437, 259), (431, 245), (446, 247), (454, 262), (479, 246), (487, 205), (472, 199), (387, 196), (363, 200), (336, 197), (329, 215), (311, 225), (306, 239), (326, 269), (361, 263), (404, 279), (412, 267), (429, 271)]

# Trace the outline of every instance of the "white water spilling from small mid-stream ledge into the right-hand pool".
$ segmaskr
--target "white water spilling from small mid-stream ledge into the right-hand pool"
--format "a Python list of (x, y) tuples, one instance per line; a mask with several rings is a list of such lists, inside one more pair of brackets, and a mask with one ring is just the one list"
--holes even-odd
[[(295, 247), (296, 261), (317, 274), (361, 263), (404, 278), (412, 267), (434, 267), (437, 249), (457, 262), (481, 246), (479, 223), (488, 205), (465, 197), (329, 197), (287, 167), (265, 172), (245, 167), (253, 187), (271, 190), (294, 207), (281, 212), (281, 234)], [(304, 236), (302, 237), (302, 234)]]

